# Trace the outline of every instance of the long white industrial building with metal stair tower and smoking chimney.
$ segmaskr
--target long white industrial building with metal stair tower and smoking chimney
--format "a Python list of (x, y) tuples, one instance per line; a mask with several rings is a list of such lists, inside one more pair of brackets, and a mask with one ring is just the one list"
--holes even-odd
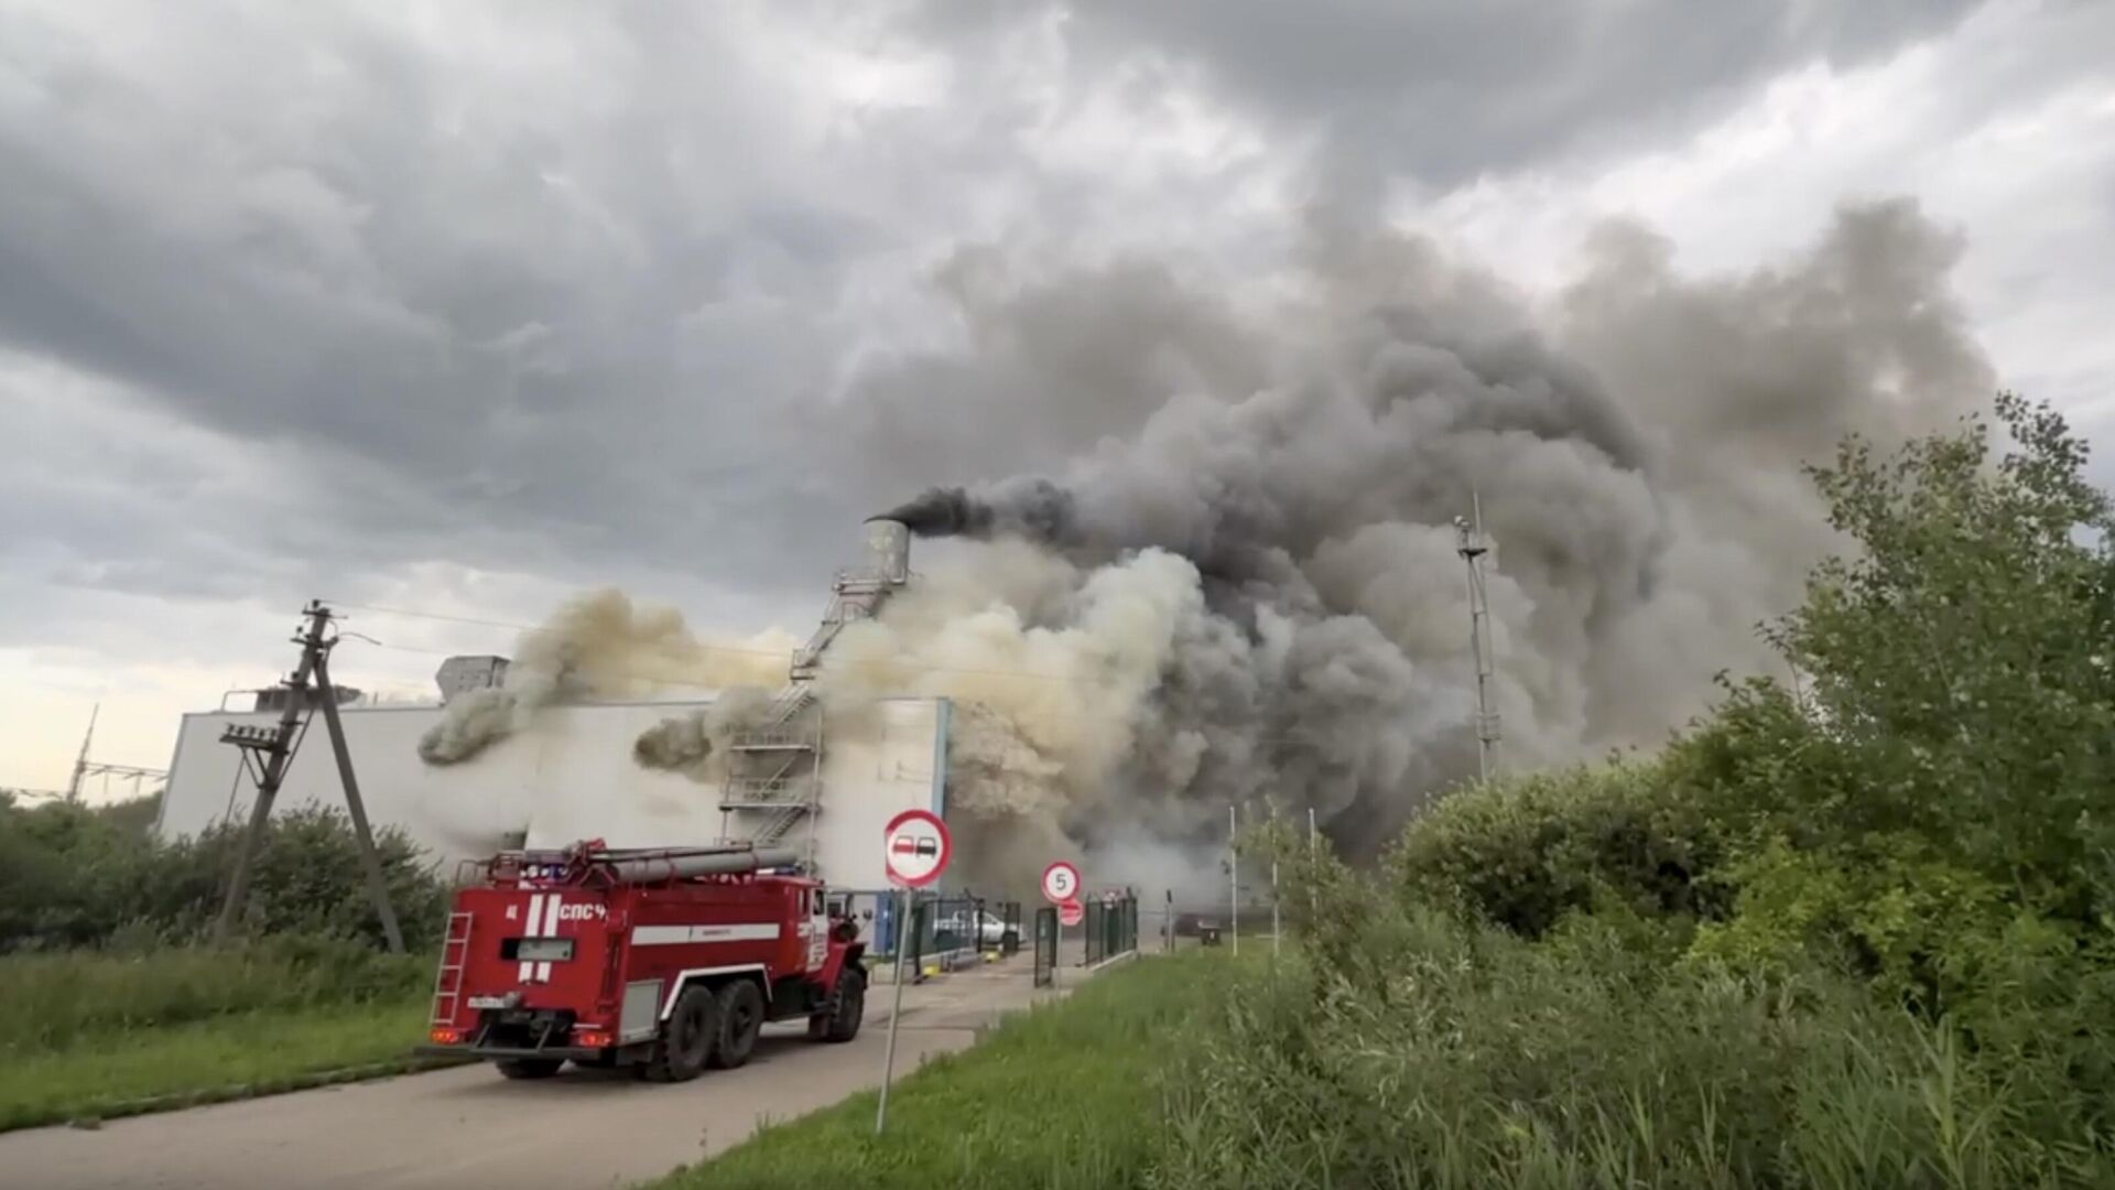
[[(838, 631), (871, 616), (909, 580), (909, 531), (869, 521), (865, 565), (838, 572), (823, 625), (793, 656), (787, 688), (764, 722), (728, 741), (725, 775), (713, 783), (632, 760), (641, 733), (702, 711), (711, 692), (544, 707), (529, 731), (448, 767), (423, 762), (419, 739), (448, 701), (499, 686), (505, 659), (448, 659), (431, 705), (341, 699), (368, 817), (402, 828), (442, 860), (580, 839), (611, 847), (755, 841), (793, 847), (833, 885), (884, 887), (884, 824), (912, 807), (948, 813), (952, 707), (948, 699), (882, 699), (857, 737), (831, 737), (812, 678)], [(269, 731), (281, 705), (283, 692), (266, 690), (254, 709), (184, 716), (157, 826), (163, 836), (247, 815), (254, 777), (243, 752), (222, 739), (228, 728)], [(345, 805), (321, 739), (294, 752), (279, 790), (279, 809), (300, 805)]]

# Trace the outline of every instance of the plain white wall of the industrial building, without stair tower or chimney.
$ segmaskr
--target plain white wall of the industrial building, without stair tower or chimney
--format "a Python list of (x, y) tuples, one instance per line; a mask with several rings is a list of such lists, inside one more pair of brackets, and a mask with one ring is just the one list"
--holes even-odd
[[(484, 750), (476, 760), (427, 767), (419, 737), (440, 707), (345, 707), (345, 737), (368, 819), (404, 828), (444, 862), (489, 855), (508, 830), (531, 847), (603, 839), (611, 847), (715, 843), (719, 786), (656, 773), (632, 762), (639, 733), (704, 703), (605, 703), (550, 707), (533, 731)], [(945, 699), (888, 699), (878, 728), (857, 739), (825, 737), (823, 809), (814, 815), (816, 866), (840, 887), (884, 887), (882, 826), (903, 809), (943, 811)], [(197, 834), (222, 817), (241, 822), (256, 792), (237, 747), (220, 743), (228, 724), (271, 726), (277, 714), (201, 711), (184, 716), (159, 830)], [(317, 722), (296, 752), (277, 807), (343, 807), (336, 764)], [(808, 826), (797, 826), (810, 830)]]

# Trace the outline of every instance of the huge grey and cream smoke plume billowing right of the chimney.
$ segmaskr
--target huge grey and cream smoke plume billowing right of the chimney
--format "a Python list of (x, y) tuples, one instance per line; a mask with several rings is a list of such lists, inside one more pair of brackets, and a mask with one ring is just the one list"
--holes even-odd
[[(1588, 248), (1535, 311), (1428, 244), (1322, 229), (1248, 326), (1261, 383), (888, 512), (975, 542), (846, 631), (829, 682), (977, 703), (950, 796), (983, 815), (1180, 845), (1277, 798), (1368, 851), (1476, 767), (1453, 521), (1481, 500), (1502, 762), (1658, 743), (1715, 671), (1768, 665), (1755, 625), (1832, 544), (1800, 464), (1937, 428), (1992, 377), (1958, 246), (1908, 203), (1749, 277), (1681, 277), (1631, 227)], [(958, 413), (1015, 440), (1005, 394)]]

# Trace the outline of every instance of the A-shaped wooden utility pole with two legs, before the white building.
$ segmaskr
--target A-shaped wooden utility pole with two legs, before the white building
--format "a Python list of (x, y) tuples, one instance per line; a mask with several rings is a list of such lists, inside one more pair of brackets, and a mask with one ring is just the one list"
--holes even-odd
[(398, 930), (396, 908), (389, 906), (389, 885), (383, 879), (381, 858), (374, 853), (368, 809), (360, 800), (360, 783), (353, 779), (353, 754), (345, 745), (345, 724), (338, 718), (338, 690), (330, 684), (330, 650), (338, 644), (336, 635), (330, 633), (334, 616), (321, 599), (311, 599), (302, 616), (309, 623), (294, 637), (294, 644), (300, 646), (300, 663), (294, 665), (294, 673), (283, 682), (286, 705), (279, 709), (279, 722), (271, 728), (233, 724), (220, 735), (222, 743), (241, 747), (245, 756), (254, 754), (260, 767), (256, 775), (258, 792), (250, 803), (250, 826), (235, 845), (235, 868), (228, 872), (228, 900), (220, 906), (214, 936), (224, 940), (235, 930), (235, 919), (241, 917), (243, 902), (250, 896), (250, 864), (256, 858), (258, 843), (264, 839), (273, 798), (279, 796), (279, 786), (286, 783), (286, 771), (294, 760), (294, 739), (302, 731), (302, 711), (313, 709), (307, 703), (315, 697), (324, 707), (330, 750), (338, 760), (345, 809), (353, 819), (353, 839), (360, 847), (360, 866), (368, 881), (368, 896), (374, 900), (374, 915), (381, 917), (389, 951), (402, 955), (404, 934)]

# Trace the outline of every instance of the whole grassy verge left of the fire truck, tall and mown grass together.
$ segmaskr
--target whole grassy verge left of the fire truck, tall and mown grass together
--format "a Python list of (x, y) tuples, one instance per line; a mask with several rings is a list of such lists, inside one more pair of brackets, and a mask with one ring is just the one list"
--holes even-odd
[(0, 1131), (417, 1069), (429, 978), (296, 938), (0, 957)]

